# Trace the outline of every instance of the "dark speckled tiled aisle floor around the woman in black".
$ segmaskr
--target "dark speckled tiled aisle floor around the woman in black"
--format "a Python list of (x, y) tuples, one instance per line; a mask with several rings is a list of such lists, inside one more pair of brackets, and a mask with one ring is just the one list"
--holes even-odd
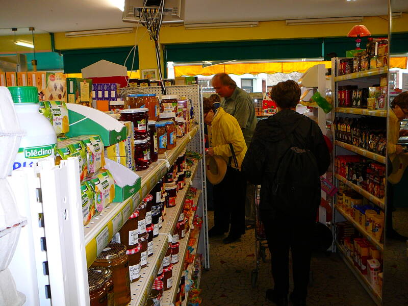
[[(209, 212), (209, 228), (213, 212)], [(260, 264), (258, 282), (251, 287), (251, 271), (256, 268), (254, 230), (241, 241), (223, 244), (222, 237), (210, 239), (210, 270), (203, 271), (200, 287), (202, 306), (269, 306), (265, 291), (272, 288), (270, 254)], [(312, 259), (313, 283), (309, 306), (374, 306), (375, 303), (337, 254), (316, 254)]]

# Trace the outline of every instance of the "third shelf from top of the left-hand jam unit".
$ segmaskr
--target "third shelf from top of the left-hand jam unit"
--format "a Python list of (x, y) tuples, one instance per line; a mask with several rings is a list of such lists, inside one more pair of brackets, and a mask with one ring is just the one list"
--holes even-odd
[[(194, 198), (195, 204), (198, 202), (198, 198), (200, 197), (201, 190), (197, 190), (197, 193)], [(189, 222), (192, 224), (195, 216), (194, 212), (191, 214)], [(180, 283), (180, 278), (182, 277), (182, 272), (184, 271), (184, 260), (186, 258), (186, 253), (187, 253), (187, 247), (188, 247), (188, 242), (190, 240), (190, 235), (192, 233), (192, 228), (190, 228), (190, 231), (186, 233), (186, 236), (184, 236), (184, 239), (180, 240), (180, 246), (179, 246), (179, 262), (175, 265), (173, 265), (173, 286), (171, 287), (170, 290), (164, 291), (163, 292), (163, 300), (162, 300), (162, 305), (163, 306), (170, 306), (175, 303), (175, 297), (177, 295), (177, 289), (179, 289), (179, 283)], [(198, 237), (197, 237), (198, 238)], [(198, 240), (198, 239), (197, 239)]]

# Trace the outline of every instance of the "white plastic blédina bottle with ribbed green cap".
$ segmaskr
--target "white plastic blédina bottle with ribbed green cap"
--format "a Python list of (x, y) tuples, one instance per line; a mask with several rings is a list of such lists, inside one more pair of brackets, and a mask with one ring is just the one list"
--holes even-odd
[(18, 123), (25, 132), (13, 170), (32, 167), (43, 158), (55, 158), (57, 136), (53, 125), (39, 113), (37, 87), (12, 86), (8, 89), (14, 101)]

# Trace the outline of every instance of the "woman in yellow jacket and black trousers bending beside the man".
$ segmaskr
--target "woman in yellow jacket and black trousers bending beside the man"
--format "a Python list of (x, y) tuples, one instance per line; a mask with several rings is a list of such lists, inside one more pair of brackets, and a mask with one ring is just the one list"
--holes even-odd
[[(241, 172), (241, 164), (246, 153), (246, 144), (241, 127), (230, 114), (221, 107), (214, 111), (212, 102), (203, 99), (204, 122), (208, 124), (210, 147), (209, 156), (221, 156), (227, 163), (227, 170), (221, 183), (214, 185), (214, 227), (209, 236), (230, 233), (223, 241), (232, 243), (245, 234), (245, 194), (246, 180)], [(232, 144), (238, 165), (232, 161)]]

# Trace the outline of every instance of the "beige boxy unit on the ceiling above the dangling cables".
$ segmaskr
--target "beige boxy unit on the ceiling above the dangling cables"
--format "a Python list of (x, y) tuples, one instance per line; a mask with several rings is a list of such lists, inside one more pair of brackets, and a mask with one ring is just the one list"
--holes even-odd
[[(163, 0), (164, 12), (162, 24), (184, 23), (185, 0)], [(125, 0), (123, 10), (123, 22), (139, 23), (140, 13), (145, 9), (157, 10), (161, 0)], [(160, 15), (157, 14), (159, 17)]]

